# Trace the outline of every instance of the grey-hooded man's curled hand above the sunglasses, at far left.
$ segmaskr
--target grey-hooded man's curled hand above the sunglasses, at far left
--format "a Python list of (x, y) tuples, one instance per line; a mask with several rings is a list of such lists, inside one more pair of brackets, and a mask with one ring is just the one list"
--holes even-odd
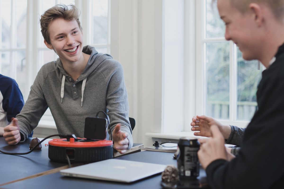
[(18, 144), (18, 142), (20, 142), (21, 135), (20, 135), (20, 127), (18, 125), (18, 119), (12, 118), (12, 122), (10, 123), (10, 125), (4, 128), (3, 137), (5, 138), (5, 141), (9, 145), (15, 145)]

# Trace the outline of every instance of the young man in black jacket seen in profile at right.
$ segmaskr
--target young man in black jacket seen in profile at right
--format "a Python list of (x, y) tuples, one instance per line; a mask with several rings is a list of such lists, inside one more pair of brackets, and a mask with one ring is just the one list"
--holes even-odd
[(239, 154), (229, 157), (218, 126), (201, 139), (199, 160), (212, 188), (284, 188), (284, 1), (217, 0), (232, 40), (245, 60), (266, 67), (258, 85), (258, 110), (243, 134)]

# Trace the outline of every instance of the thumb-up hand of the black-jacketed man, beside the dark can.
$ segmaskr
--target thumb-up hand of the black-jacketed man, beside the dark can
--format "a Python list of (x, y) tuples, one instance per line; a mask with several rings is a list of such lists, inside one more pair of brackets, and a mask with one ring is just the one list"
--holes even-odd
[(224, 145), (224, 137), (216, 125), (210, 127), (212, 137), (198, 139), (200, 149), (197, 152), (199, 161), (204, 169), (214, 160), (228, 160), (227, 151)]

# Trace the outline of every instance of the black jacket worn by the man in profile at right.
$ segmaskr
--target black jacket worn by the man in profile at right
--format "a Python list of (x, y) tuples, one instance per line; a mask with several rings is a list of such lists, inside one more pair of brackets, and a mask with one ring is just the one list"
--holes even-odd
[(258, 111), (243, 136), (239, 155), (206, 169), (212, 188), (284, 188), (284, 44), (263, 71)]

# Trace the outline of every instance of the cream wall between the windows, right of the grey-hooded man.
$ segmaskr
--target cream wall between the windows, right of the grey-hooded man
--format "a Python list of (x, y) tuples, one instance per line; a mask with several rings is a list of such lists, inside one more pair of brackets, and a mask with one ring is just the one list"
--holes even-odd
[(124, 67), (134, 143), (146, 145), (145, 133), (161, 130), (162, 0), (111, 3), (119, 7), (111, 15), (111, 54)]

